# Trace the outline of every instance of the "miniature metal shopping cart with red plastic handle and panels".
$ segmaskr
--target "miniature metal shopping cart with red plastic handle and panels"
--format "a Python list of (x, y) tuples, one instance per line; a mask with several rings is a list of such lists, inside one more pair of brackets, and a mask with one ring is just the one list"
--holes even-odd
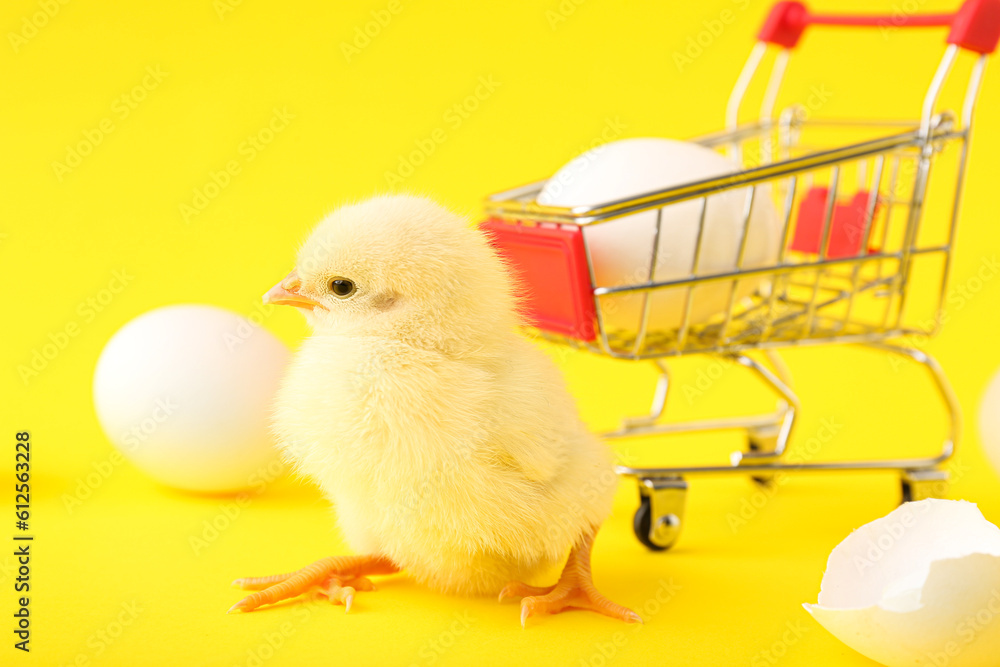
[[(791, 51), (809, 25), (950, 26), (919, 119), (820, 120), (803, 105), (775, 113)], [(607, 438), (746, 432), (746, 450), (734, 453), (728, 465), (618, 466), (620, 475), (638, 481), (634, 529), (648, 548), (663, 550), (676, 541), (688, 488), (685, 478), (691, 475), (742, 473), (767, 483), (778, 471), (893, 470), (900, 474), (904, 501), (946, 493), (943, 464), (955, 453), (961, 434), (959, 406), (938, 363), (900, 339), (933, 333), (941, 321), (973, 111), (998, 35), (998, 0), (970, 0), (954, 14), (909, 16), (814, 14), (801, 3), (779, 2), (736, 81), (726, 108), (726, 130), (693, 140), (725, 153), (743, 165), (741, 171), (596, 206), (541, 205), (537, 198), (546, 181), (487, 198), (488, 219), (482, 226), (529, 287), (527, 312), (540, 336), (595, 354), (655, 364), (659, 380), (650, 413), (624, 420), (618, 430), (605, 434)], [(973, 53), (974, 60), (956, 115), (939, 111), (938, 100), (961, 50)], [(761, 67), (765, 61), (772, 63), (766, 75), (767, 68)], [(740, 122), (741, 107), (757, 79), (764, 88), (759, 115)], [(944, 156), (949, 154), (946, 169)], [(935, 192), (947, 188), (948, 200), (939, 215), (925, 216), (932, 165), (942, 161), (945, 165), (933, 172)], [(697, 271), (709, 199), (726, 191), (745, 196), (734, 268)], [(755, 197), (772, 199), (781, 221), (781, 245), (776, 261), (747, 267), (747, 230)], [(664, 211), (691, 201), (700, 203), (691, 274), (657, 279)], [(640, 213), (655, 215), (648, 266), (625, 284), (598, 284), (587, 230)], [(747, 284), (753, 286), (749, 296), (742, 287)], [(727, 306), (708, 318), (693, 317), (699, 290), (718, 290), (719, 285), (728, 290)], [(651, 324), (651, 312), (655, 314), (656, 295), (667, 290), (682, 293), (684, 305), (679, 325), (663, 329)], [(932, 313), (924, 320), (910, 312), (915, 290), (936, 294)], [(640, 300), (634, 326), (610, 323), (609, 313), (621, 299)], [(948, 418), (940, 453), (888, 460), (788, 460), (799, 399), (777, 350), (816, 343), (856, 343), (921, 364)], [(752, 352), (759, 352), (759, 359), (749, 356)], [(718, 355), (745, 367), (776, 395), (776, 410), (664, 423), (670, 388), (665, 360), (693, 354)]]

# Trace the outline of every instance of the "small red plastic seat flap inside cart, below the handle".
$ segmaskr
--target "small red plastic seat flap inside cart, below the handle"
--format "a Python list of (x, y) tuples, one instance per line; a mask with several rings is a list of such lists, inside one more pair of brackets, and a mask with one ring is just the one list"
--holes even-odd
[[(799, 205), (798, 224), (795, 225), (795, 236), (789, 248), (799, 252), (819, 253), (829, 195), (828, 188), (809, 189)], [(830, 241), (826, 248), (827, 258), (853, 257), (861, 253), (865, 214), (872, 196), (872, 193), (862, 190), (850, 202), (834, 204), (833, 218), (830, 220)]]

